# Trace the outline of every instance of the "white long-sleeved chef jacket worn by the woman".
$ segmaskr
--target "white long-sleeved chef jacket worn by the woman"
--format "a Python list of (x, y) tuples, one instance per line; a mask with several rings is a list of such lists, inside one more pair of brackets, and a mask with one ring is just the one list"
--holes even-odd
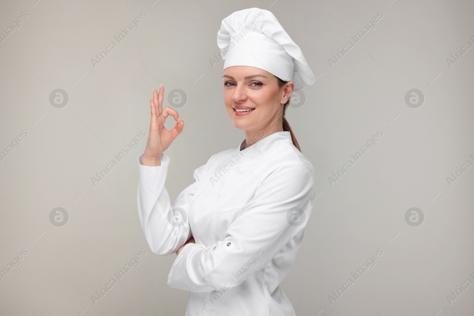
[[(190, 291), (185, 316), (295, 315), (280, 283), (290, 270), (315, 200), (314, 169), (276, 132), (212, 155), (174, 202), (170, 158), (141, 164), (137, 206), (152, 253), (176, 253), (168, 286)], [(177, 180), (177, 179), (176, 179)]]

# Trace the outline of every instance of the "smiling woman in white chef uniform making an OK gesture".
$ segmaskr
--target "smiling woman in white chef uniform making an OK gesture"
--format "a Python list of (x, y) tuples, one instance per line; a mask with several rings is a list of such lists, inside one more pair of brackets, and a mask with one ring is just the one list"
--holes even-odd
[[(222, 20), (224, 103), (245, 140), (212, 155), (173, 206), (164, 187), (163, 153), (183, 129), (164, 88), (150, 99), (150, 132), (138, 156), (138, 216), (156, 255), (177, 253), (168, 286), (190, 291), (187, 316), (289, 316), (280, 289), (304, 235), (315, 199), (314, 169), (284, 114), (293, 89), (314, 75), (268, 10), (237, 11)], [(178, 122), (168, 131), (166, 117)]]

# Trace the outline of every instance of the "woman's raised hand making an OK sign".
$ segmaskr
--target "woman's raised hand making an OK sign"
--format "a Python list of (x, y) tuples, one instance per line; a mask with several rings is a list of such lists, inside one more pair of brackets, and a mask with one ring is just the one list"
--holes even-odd
[[(142, 165), (144, 166), (161, 165), (161, 154), (182, 132), (184, 127), (184, 120), (179, 119), (178, 112), (175, 109), (170, 107), (162, 108), (163, 95), (164, 87), (161, 84), (158, 91), (153, 89), (153, 99), (150, 99), (150, 131), (142, 157)], [(169, 115), (173, 116), (174, 120), (178, 122), (171, 130), (167, 130), (164, 127), (166, 117)]]

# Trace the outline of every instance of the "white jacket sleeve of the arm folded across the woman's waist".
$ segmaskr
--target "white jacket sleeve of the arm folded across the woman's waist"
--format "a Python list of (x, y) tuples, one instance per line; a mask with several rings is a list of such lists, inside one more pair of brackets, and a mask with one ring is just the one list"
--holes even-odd
[(255, 181), (254, 197), (228, 226), (224, 240), (182, 248), (168, 276), (170, 287), (204, 292), (238, 286), (285, 245), (301, 242), (315, 195), (312, 175), (304, 163), (277, 163)]

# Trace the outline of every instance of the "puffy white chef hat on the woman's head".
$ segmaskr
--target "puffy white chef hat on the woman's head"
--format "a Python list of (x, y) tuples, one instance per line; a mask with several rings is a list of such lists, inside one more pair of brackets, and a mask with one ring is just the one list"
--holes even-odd
[(295, 90), (315, 81), (300, 47), (268, 10), (244, 9), (224, 18), (217, 32), (217, 45), (224, 69), (231, 66), (260, 68), (283, 81), (294, 81)]

